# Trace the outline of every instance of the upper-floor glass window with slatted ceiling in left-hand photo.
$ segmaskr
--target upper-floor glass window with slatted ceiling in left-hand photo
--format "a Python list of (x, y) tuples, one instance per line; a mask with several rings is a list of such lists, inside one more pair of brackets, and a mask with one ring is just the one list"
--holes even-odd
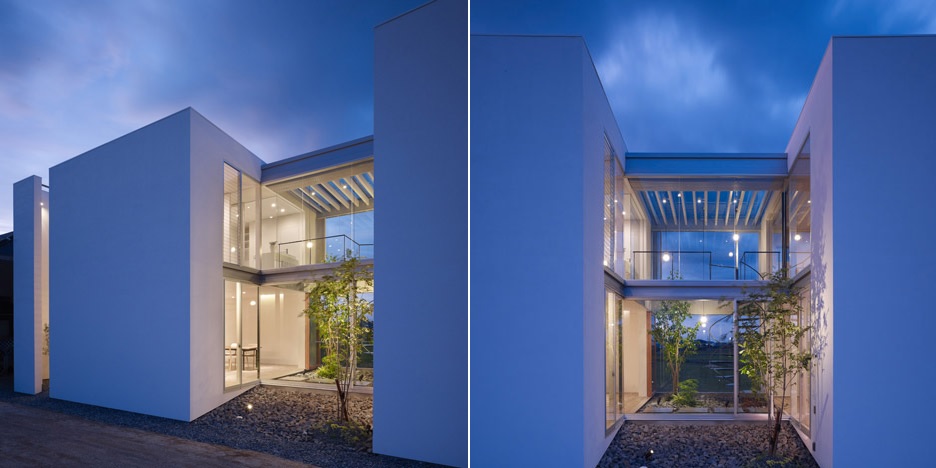
[(372, 258), (375, 201), (373, 160), (265, 186), (263, 268)]

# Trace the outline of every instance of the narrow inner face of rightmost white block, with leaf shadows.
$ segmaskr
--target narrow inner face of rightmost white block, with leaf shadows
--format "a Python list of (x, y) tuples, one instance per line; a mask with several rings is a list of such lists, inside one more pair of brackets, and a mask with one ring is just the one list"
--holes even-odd
[[(815, 358), (811, 379), (810, 437), (805, 441), (813, 456), (825, 468), (833, 461), (833, 154), (832, 154), (832, 77), (833, 44), (826, 50), (799, 120), (787, 144), (786, 153), (792, 167), (806, 137), (810, 139), (810, 196), (812, 216), (812, 341)], [(834, 203), (840, 200), (836, 197)], [(836, 206), (836, 212), (839, 207)], [(841, 226), (836, 226), (838, 232)], [(854, 233), (852, 234), (854, 235)], [(836, 368), (838, 366), (836, 365)], [(853, 383), (851, 388), (860, 384)], [(846, 387), (848, 388), (848, 387)], [(868, 407), (870, 409), (870, 406)], [(838, 426), (836, 422), (836, 426)]]

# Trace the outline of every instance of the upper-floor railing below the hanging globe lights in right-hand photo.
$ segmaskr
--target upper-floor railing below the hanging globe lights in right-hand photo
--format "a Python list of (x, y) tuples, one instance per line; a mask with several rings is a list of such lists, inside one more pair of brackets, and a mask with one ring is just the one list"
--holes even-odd
[(780, 252), (746, 251), (716, 259), (709, 250), (643, 250), (631, 256), (631, 277), (654, 280), (762, 280), (780, 268)]

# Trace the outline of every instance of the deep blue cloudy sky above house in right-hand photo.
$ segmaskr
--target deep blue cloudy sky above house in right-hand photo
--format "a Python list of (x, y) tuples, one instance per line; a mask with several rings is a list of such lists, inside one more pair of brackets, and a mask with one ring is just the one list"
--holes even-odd
[(629, 151), (782, 152), (831, 36), (936, 33), (936, 2), (477, 0), (471, 30), (583, 36)]

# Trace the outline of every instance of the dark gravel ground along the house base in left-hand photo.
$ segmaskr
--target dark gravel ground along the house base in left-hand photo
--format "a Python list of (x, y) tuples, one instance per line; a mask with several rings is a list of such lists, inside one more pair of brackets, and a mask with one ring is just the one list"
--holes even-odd
[[(10, 385), (12, 387), (12, 385)], [(336, 414), (333, 393), (256, 387), (190, 423), (49, 398), (0, 387), (0, 401), (79, 416), (199, 442), (269, 453), (327, 467), (432, 467), (370, 452), (373, 399), (352, 394), (351, 418), (357, 428), (330, 425)], [(252, 405), (248, 410), (247, 405)]]

